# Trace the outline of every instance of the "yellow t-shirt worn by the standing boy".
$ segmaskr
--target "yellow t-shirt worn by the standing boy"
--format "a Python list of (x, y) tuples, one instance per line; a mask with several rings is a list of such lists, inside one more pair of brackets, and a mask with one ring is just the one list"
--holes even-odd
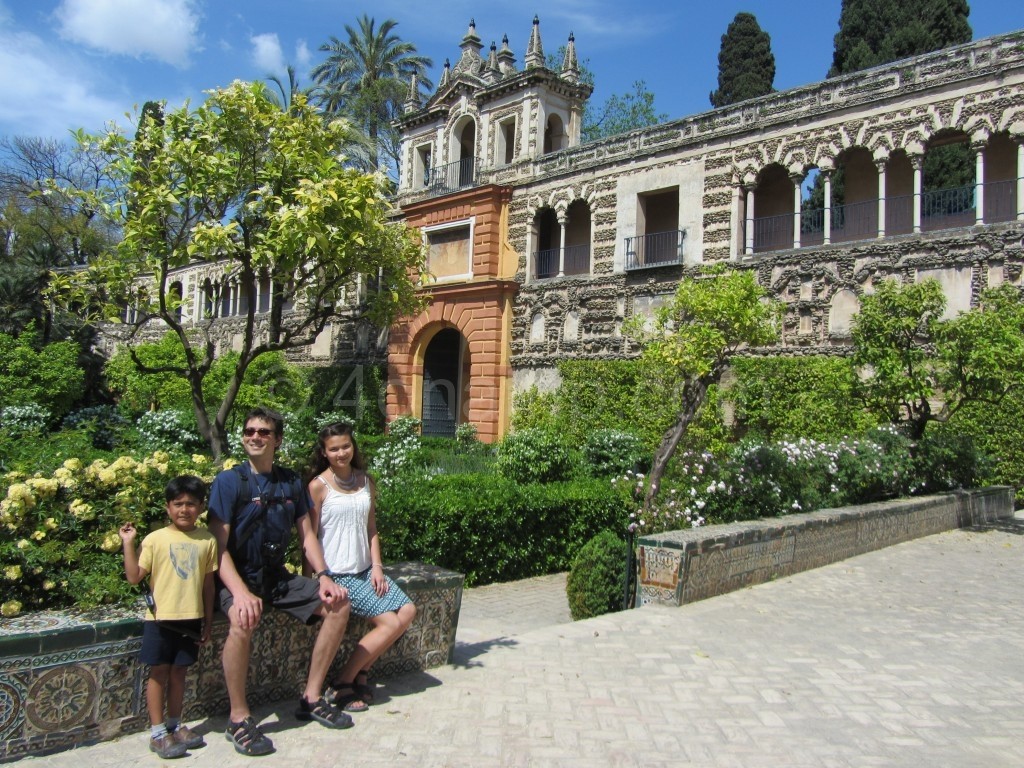
[(209, 530), (154, 530), (142, 540), (138, 564), (150, 572), (157, 602), (157, 615), (146, 610), (146, 621), (203, 617), (203, 581), (217, 569), (217, 540)]

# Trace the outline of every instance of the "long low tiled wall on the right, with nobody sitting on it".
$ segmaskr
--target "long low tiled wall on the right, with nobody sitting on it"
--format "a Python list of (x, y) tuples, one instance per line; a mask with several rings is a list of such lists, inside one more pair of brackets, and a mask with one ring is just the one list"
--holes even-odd
[(1013, 512), (1013, 488), (995, 486), (644, 536), (639, 603), (682, 605)]

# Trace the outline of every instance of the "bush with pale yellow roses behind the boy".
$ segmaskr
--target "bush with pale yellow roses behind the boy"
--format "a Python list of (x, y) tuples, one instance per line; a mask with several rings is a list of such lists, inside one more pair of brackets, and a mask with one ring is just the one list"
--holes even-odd
[(157, 451), (0, 475), (0, 614), (136, 599), (118, 528), (133, 522), (141, 541), (167, 523), (168, 480), (195, 474), (209, 482), (216, 470), (202, 455)]

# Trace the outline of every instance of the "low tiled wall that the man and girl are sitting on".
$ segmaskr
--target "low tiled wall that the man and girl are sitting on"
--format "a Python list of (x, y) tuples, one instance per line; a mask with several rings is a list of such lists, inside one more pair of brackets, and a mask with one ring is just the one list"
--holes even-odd
[[(394, 563), (388, 574), (416, 603), (416, 621), (374, 667), (387, 678), (451, 664), (464, 577), (421, 563)], [(148, 727), (138, 663), (141, 607), (29, 613), (0, 622), (0, 761), (114, 738)], [(332, 672), (369, 629), (353, 618)], [(188, 672), (184, 717), (225, 715), (220, 652), (227, 622), (217, 614), (213, 642)], [(249, 701), (297, 698), (305, 684), (315, 628), (269, 611), (253, 637)]]

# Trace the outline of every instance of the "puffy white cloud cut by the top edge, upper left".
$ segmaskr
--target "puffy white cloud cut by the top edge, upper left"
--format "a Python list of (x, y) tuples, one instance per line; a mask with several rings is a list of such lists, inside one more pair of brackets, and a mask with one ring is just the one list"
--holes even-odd
[(62, 0), (60, 36), (108, 53), (188, 65), (198, 48), (195, 0)]

